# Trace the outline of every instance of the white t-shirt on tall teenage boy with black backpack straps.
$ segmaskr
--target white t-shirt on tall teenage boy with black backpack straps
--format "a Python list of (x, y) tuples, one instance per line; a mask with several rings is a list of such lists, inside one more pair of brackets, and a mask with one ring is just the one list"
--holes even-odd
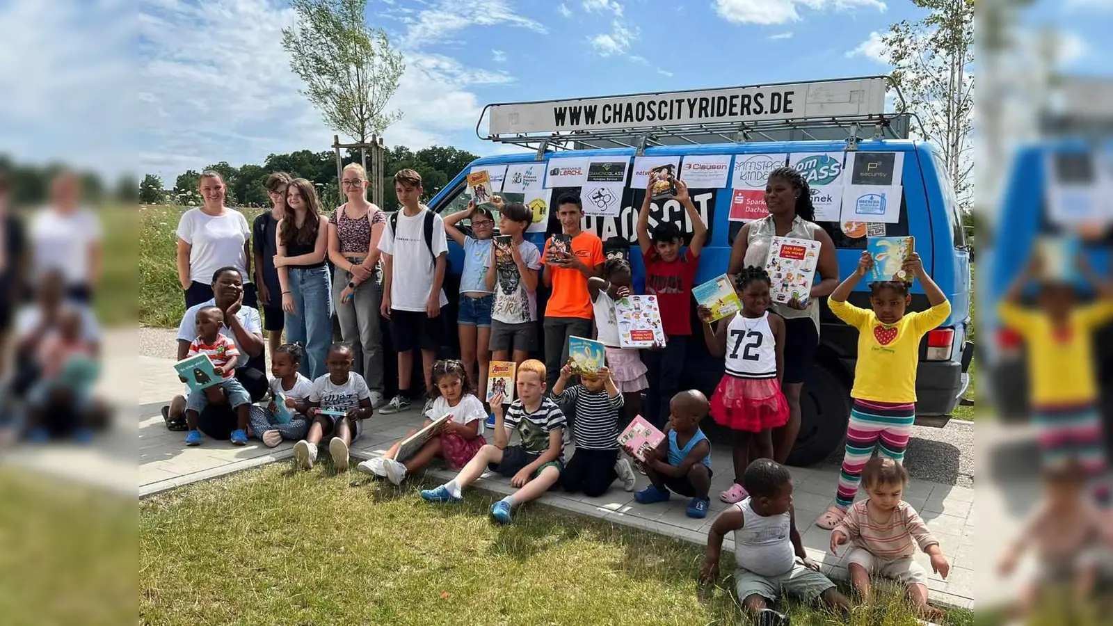
[[(429, 211), (429, 209), (425, 209)], [(425, 311), (430, 291), (433, 288), (433, 257), (425, 245), (425, 211), (413, 217), (398, 211), (398, 233), (391, 231), (391, 219), (386, 221), (383, 236), (378, 238), (378, 251), (394, 257), (391, 277), (391, 307), (398, 311)], [(433, 254), (440, 256), (449, 252), (444, 235), (444, 219), (433, 214)], [(445, 270), (447, 272), (447, 270)], [(449, 303), (441, 290), (441, 306)]]

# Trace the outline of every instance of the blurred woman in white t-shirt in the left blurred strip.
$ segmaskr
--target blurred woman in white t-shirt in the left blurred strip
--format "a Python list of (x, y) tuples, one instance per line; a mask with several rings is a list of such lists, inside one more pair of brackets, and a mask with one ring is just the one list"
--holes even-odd
[(81, 204), (81, 180), (62, 169), (50, 183), (50, 204), (31, 217), (31, 280), (41, 282), (47, 272), (61, 272), (66, 295), (89, 304), (100, 281), (100, 219)]

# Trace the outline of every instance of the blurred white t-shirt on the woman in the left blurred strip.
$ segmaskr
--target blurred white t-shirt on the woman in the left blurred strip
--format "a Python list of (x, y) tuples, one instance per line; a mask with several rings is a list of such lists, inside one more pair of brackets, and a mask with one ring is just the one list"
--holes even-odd
[(63, 214), (52, 207), (43, 208), (31, 218), (28, 232), (32, 276), (57, 270), (69, 286), (89, 282), (89, 246), (100, 241), (100, 221), (92, 211), (78, 207)]

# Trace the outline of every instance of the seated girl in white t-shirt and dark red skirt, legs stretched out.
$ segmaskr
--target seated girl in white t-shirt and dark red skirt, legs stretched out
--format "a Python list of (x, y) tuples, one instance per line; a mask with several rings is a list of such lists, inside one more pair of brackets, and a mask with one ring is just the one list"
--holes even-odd
[[(433, 405), (426, 411), (422, 428), (452, 413), (452, 419), (444, 422), (439, 436), (426, 441), (421, 450), (404, 462), (395, 459), (402, 444), (398, 441), (386, 454), (363, 461), (356, 468), (386, 478), (394, 485), (402, 485), (407, 476), (413, 476), (436, 457), (443, 458), (453, 470), (463, 469), (486, 444), (483, 439), (486, 410), (483, 402), (472, 393), (471, 376), (461, 361), (437, 361), (433, 364)], [(411, 430), (405, 438), (415, 432), (417, 431)]]

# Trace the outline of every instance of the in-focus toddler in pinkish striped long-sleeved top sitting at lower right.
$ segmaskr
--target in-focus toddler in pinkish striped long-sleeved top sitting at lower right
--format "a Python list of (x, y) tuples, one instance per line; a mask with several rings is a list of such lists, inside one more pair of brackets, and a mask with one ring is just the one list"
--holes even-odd
[(894, 578), (905, 586), (923, 617), (937, 620), (943, 612), (927, 604), (927, 573), (913, 560), (916, 546), (930, 555), (932, 569), (944, 579), (951, 566), (927, 525), (912, 505), (900, 499), (908, 472), (893, 459), (876, 457), (863, 468), (861, 485), (869, 498), (855, 502), (831, 531), (831, 554), (838, 554), (838, 546), (854, 541), (847, 570), (863, 600), (871, 598), (871, 575)]

